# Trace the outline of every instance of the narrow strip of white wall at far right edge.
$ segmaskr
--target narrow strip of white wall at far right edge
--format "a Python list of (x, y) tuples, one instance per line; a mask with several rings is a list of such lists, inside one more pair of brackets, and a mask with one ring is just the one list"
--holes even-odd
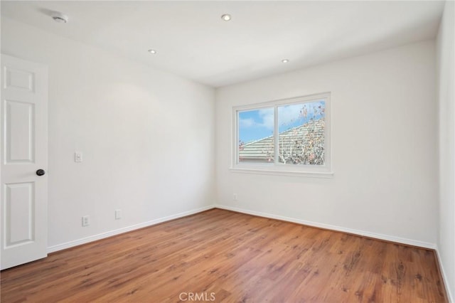
[(454, 11), (454, 1), (446, 1), (437, 37), (440, 195), (438, 252), (452, 302), (455, 302)]

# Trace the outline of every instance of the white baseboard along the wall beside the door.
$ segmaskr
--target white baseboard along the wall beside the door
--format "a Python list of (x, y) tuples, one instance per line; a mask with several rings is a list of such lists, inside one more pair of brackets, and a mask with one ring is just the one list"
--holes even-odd
[(121, 233), (127, 233), (127, 232), (132, 231), (132, 230), (137, 230), (139, 228), (144, 228), (144, 227), (155, 225), (155, 224), (158, 224), (158, 223), (163, 223), (163, 222), (166, 222), (168, 220), (173, 220), (173, 219), (177, 219), (177, 218), (190, 216), (190, 215), (193, 215), (195, 213), (200, 213), (201, 211), (208, 211), (209, 209), (212, 209), (212, 208), (215, 208), (215, 206), (213, 206), (213, 205), (204, 206), (204, 207), (201, 207), (201, 208), (193, 209), (192, 211), (185, 211), (183, 213), (177, 213), (177, 214), (172, 215), (172, 216), (158, 218), (158, 219), (155, 219), (155, 220), (151, 220), (151, 221), (148, 221), (148, 222), (127, 226), (127, 227), (124, 227), (124, 228), (119, 228), (119, 229), (116, 229), (116, 230), (110, 230), (110, 231), (107, 231), (106, 233), (99, 233), (97, 235), (90, 235), (90, 237), (87, 237), (87, 238), (82, 238), (82, 239), (73, 240), (73, 241), (70, 241), (70, 242), (67, 242), (67, 243), (53, 245), (53, 246), (48, 247), (48, 253), (56, 252), (58, 250), (65, 250), (67, 248), (73, 248), (74, 246), (77, 246), (77, 245), (82, 245), (82, 244), (90, 243), (90, 242), (93, 242), (93, 241), (96, 241), (96, 240), (101, 240), (101, 239), (104, 239), (104, 238), (112, 237), (112, 235), (119, 235)]

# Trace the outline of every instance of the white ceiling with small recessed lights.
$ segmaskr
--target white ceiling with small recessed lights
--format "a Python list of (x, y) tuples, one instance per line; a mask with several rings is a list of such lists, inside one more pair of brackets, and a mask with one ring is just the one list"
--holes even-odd
[[(1, 16), (220, 87), (434, 38), (443, 8), (442, 1), (1, 1)], [(69, 22), (56, 23), (50, 11)]]

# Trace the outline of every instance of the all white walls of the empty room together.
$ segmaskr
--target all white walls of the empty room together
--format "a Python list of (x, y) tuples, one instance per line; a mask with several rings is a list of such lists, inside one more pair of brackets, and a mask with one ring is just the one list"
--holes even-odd
[[(216, 109), (210, 87), (8, 18), (1, 52), (49, 65), (51, 248), (210, 207), (216, 164), (222, 207), (437, 243), (455, 293), (453, 1), (437, 40), (439, 188), (434, 41), (222, 87)], [(333, 179), (229, 171), (232, 106), (326, 91)]]

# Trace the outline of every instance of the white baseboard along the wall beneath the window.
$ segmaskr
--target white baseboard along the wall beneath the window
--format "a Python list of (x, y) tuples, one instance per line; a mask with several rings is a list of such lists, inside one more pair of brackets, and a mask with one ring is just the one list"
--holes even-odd
[(363, 230), (343, 228), (341, 226), (336, 226), (336, 225), (316, 223), (316, 222), (311, 222), (311, 221), (307, 221), (307, 220), (289, 218), (289, 217), (284, 217), (284, 216), (277, 216), (277, 215), (272, 215), (271, 213), (261, 213), (259, 211), (250, 211), (250, 210), (244, 209), (244, 208), (235, 208), (235, 207), (224, 206), (224, 205), (219, 205), (219, 204), (215, 205), (215, 208), (221, 208), (221, 209), (225, 209), (228, 211), (237, 211), (238, 213), (247, 213), (247, 214), (253, 215), (253, 216), (260, 216), (260, 217), (265, 217), (265, 218), (283, 220), (283, 221), (288, 221), (288, 222), (292, 222), (292, 223), (299, 223), (299, 224), (309, 225), (309, 226), (313, 226), (313, 227), (317, 227), (317, 228), (336, 230), (336, 231), (341, 231), (343, 233), (352, 233), (354, 235), (363, 235), (368, 238), (375, 238), (375, 239), (386, 240), (386, 241), (395, 242), (395, 243), (402, 243), (402, 244), (406, 244), (406, 245), (418, 246), (420, 248), (429, 248), (432, 250), (437, 249), (437, 246), (434, 243), (427, 243), (427, 242), (422, 242), (422, 241), (418, 241), (418, 240), (400, 238), (400, 237), (395, 237), (392, 235), (382, 235), (380, 233), (369, 233), (369, 232), (366, 232)]

